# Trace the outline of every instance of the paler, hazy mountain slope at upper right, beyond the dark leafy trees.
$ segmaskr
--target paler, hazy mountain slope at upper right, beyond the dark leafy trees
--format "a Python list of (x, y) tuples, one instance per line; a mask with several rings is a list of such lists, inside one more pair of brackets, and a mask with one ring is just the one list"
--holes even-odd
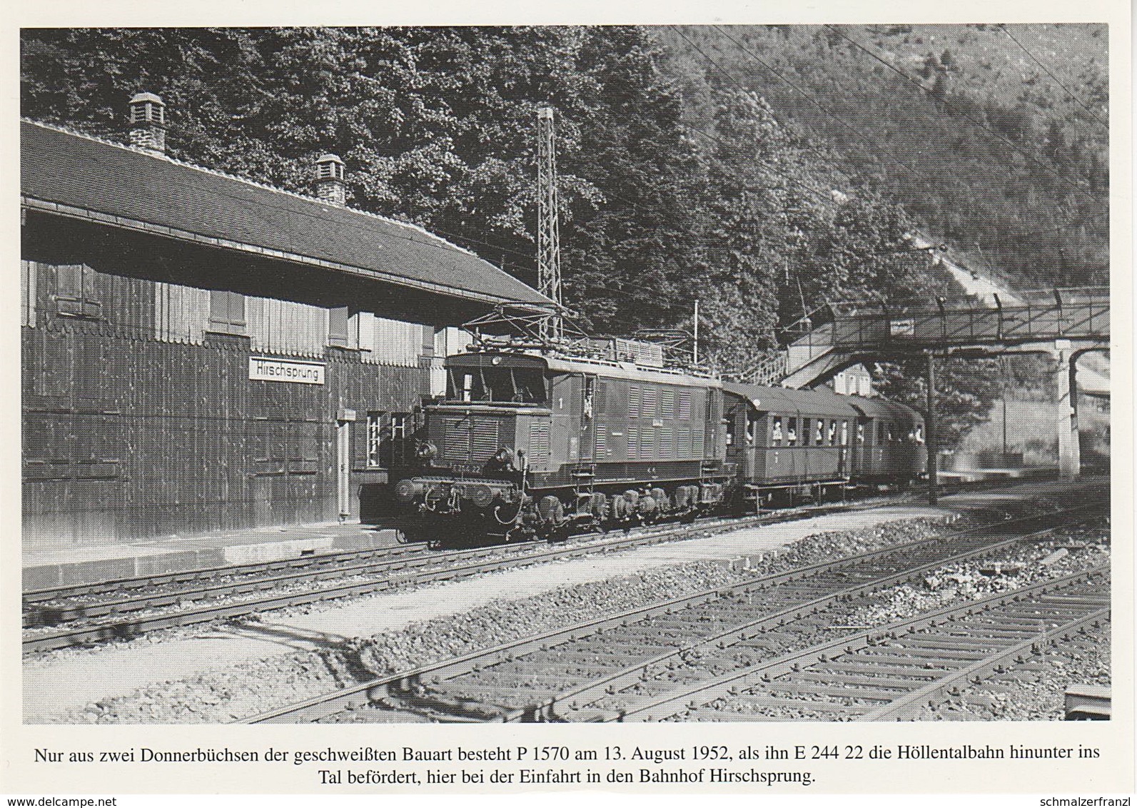
[(1106, 26), (657, 34), (694, 125), (713, 123), (715, 88), (754, 90), (980, 270), (1020, 289), (1107, 282)]

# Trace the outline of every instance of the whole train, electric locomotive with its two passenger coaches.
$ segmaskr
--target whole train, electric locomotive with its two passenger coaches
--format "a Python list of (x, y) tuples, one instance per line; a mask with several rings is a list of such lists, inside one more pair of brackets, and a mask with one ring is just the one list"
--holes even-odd
[(902, 403), (727, 381), (616, 350), (473, 345), (445, 361), (397, 507), (442, 541), (546, 539), (924, 474), (921, 414)]

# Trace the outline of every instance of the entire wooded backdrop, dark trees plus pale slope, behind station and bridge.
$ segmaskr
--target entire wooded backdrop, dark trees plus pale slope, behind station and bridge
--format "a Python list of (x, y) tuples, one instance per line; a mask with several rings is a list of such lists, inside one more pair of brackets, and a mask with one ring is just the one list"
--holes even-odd
[[(825, 300), (943, 291), (915, 228), (1018, 285), (1104, 278), (1104, 34), (1015, 31), (1069, 98), (998, 30), (890, 26), (25, 30), (20, 100), (121, 141), (157, 92), (172, 156), (299, 192), (335, 152), (350, 205), (531, 284), (551, 106), (581, 325), (689, 328), (698, 299), (739, 372)], [(947, 378), (960, 432), (991, 393)]]

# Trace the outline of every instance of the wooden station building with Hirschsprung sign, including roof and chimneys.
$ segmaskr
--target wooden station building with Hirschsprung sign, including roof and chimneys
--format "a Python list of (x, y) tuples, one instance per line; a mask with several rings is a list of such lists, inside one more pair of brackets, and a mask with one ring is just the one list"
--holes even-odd
[[(131, 145), (20, 125), (25, 548), (352, 519), (453, 326), (549, 301), (418, 227)], [(449, 340), (448, 340), (449, 335)]]

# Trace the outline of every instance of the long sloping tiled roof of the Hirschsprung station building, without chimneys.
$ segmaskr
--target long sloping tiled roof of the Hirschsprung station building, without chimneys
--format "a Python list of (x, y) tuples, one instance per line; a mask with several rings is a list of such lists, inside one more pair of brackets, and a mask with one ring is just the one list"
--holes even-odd
[(421, 227), (32, 120), (20, 122), (20, 202), (424, 292), (551, 303)]

